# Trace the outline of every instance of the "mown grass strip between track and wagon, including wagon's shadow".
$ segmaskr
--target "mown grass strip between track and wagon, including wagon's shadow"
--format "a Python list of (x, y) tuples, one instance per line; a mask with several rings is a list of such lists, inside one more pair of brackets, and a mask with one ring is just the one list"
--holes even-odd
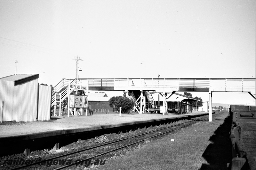
[[(232, 159), (228, 112), (168, 134), (99, 169), (227, 169)], [(172, 142), (171, 139), (174, 139)]]

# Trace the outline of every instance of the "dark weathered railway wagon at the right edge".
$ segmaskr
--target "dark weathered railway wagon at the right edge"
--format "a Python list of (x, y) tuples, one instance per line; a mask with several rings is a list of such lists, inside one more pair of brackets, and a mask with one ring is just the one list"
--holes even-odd
[(231, 105), (232, 170), (256, 169), (256, 117), (252, 106)]

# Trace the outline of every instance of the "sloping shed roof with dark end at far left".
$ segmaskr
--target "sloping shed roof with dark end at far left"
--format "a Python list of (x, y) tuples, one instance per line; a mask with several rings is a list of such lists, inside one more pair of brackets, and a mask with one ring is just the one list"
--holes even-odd
[(14, 81), (14, 85), (18, 85), (28, 82), (30, 80), (34, 80), (36, 78), (39, 78), (39, 74), (14, 74), (11, 76), (0, 78), (0, 80)]

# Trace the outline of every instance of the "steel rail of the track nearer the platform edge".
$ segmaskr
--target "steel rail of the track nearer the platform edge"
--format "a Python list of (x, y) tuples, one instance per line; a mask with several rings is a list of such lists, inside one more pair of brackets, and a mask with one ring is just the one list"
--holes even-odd
[(68, 155), (77, 154), (77, 153), (88, 151), (88, 150), (91, 150), (91, 149), (94, 149), (94, 148), (98, 148), (98, 147), (101, 147), (101, 146), (106, 146), (106, 145), (114, 144), (114, 143), (117, 143), (117, 142), (120, 142), (120, 141), (123, 141), (123, 140), (131, 139), (131, 138), (134, 138), (134, 137), (139, 137), (139, 136), (146, 135), (146, 134), (149, 134), (149, 133), (153, 133), (153, 132), (156, 132), (156, 131), (159, 131), (159, 130), (168, 129), (168, 128), (171, 128), (173, 126), (178, 126), (178, 125), (181, 125), (181, 124), (185, 124), (185, 123), (189, 123), (189, 122), (193, 122), (193, 121), (198, 121), (200, 119), (203, 119), (203, 118), (198, 118), (198, 119), (195, 119), (195, 120), (187, 121), (187, 122), (184, 122), (184, 123), (179, 123), (179, 124), (168, 126), (168, 127), (161, 128), (161, 129), (156, 129), (156, 130), (153, 130), (153, 131), (150, 131), (150, 132), (146, 132), (146, 133), (142, 133), (142, 134), (139, 134), (139, 135), (135, 135), (135, 136), (132, 136), (132, 137), (126, 137), (126, 138), (119, 139), (119, 140), (116, 140), (116, 141), (112, 141), (112, 142), (108, 142), (108, 143), (92, 146), (90, 148), (82, 149), (82, 150), (79, 150), (79, 151), (76, 151), (76, 152), (66, 153), (66, 154), (63, 154), (63, 155), (60, 155), (60, 156), (56, 156), (56, 157), (52, 157), (52, 158), (49, 158), (49, 159), (44, 159), (42, 161), (34, 162), (32, 164), (15, 167), (15, 168), (12, 168), (10, 170), (16, 170), (16, 169), (25, 168), (25, 167), (28, 167), (28, 166), (33, 166), (33, 165), (36, 165), (36, 164), (39, 164), (39, 163), (43, 163), (43, 162), (46, 162), (46, 161), (49, 161), (49, 160), (52, 160), (52, 159), (58, 159), (58, 158), (65, 157), (65, 156), (68, 156)]

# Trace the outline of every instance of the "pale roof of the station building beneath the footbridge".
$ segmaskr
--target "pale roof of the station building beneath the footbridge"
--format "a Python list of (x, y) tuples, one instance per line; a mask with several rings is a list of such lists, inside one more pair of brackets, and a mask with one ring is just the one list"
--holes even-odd
[[(168, 96), (170, 95), (171, 93), (168, 94)], [(152, 93), (152, 97), (153, 97), (153, 100), (158, 101), (158, 93)], [(159, 101), (163, 101), (163, 99), (164, 99), (163, 96), (159, 95)], [(199, 100), (193, 97), (189, 97), (189, 96), (175, 92), (171, 97), (167, 99), (167, 101), (199, 101)]]

